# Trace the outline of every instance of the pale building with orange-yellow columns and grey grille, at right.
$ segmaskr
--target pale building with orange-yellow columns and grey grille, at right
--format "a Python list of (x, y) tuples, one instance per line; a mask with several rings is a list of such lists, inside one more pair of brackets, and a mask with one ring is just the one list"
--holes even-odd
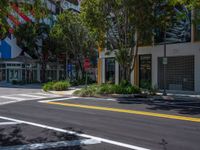
[[(199, 13), (199, 12), (198, 12)], [(176, 22), (167, 31), (166, 88), (172, 91), (200, 93), (200, 24), (192, 24), (191, 16)], [(142, 88), (164, 88), (162, 33), (156, 33), (154, 44), (139, 47), (137, 64), (131, 75), (131, 83)], [(99, 83), (120, 83), (120, 65), (114, 53), (99, 52)]]

